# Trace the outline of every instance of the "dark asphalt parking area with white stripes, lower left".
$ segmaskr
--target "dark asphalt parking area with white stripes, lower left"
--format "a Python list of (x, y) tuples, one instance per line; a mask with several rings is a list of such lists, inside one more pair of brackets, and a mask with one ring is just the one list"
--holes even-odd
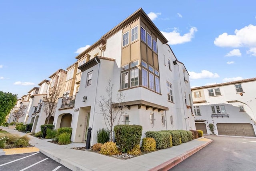
[(46, 155), (26, 153), (0, 156), (0, 171), (71, 171)]

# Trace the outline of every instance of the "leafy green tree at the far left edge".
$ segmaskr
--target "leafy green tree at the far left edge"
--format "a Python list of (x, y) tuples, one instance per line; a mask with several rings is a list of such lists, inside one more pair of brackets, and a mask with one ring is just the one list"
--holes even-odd
[(6, 122), (6, 116), (17, 102), (17, 94), (0, 91), (0, 125)]

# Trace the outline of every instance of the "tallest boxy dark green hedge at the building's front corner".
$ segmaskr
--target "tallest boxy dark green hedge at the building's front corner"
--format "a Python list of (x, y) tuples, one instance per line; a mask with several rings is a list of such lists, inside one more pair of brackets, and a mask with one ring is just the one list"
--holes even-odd
[(122, 152), (130, 151), (135, 145), (140, 144), (141, 125), (116, 125), (114, 131), (116, 142), (120, 145)]

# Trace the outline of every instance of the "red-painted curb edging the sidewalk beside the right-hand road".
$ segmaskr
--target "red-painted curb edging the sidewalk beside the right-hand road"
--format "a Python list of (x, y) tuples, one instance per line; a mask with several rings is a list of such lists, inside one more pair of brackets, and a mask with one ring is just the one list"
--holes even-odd
[(183, 154), (181, 154), (177, 157), (174, 157), (173, 159), (170, 159), (170, 160), (168, 160), (168, 161), (150, 169), (150, 171), (168, 171), (169, 169), (178, 165), (180, 162), (184, 161), (186, 158), (190, 157), (191, 155), (198, 152), (200, 149), (206, 147), (210, 143), (212, 143), (211, 139), (209, 139), (209, 141), (207, 143), (203, 144), (203, 145), (199, 145), (194, 149), (186, 151), (185, 153), (183, 153)]

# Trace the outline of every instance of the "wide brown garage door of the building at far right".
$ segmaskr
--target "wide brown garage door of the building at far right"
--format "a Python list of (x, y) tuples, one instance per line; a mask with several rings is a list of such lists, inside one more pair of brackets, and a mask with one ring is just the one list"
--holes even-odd
[(255, 132), (250, 123), (217, 123), (219, 135), (234, 135), (255, 137)]

